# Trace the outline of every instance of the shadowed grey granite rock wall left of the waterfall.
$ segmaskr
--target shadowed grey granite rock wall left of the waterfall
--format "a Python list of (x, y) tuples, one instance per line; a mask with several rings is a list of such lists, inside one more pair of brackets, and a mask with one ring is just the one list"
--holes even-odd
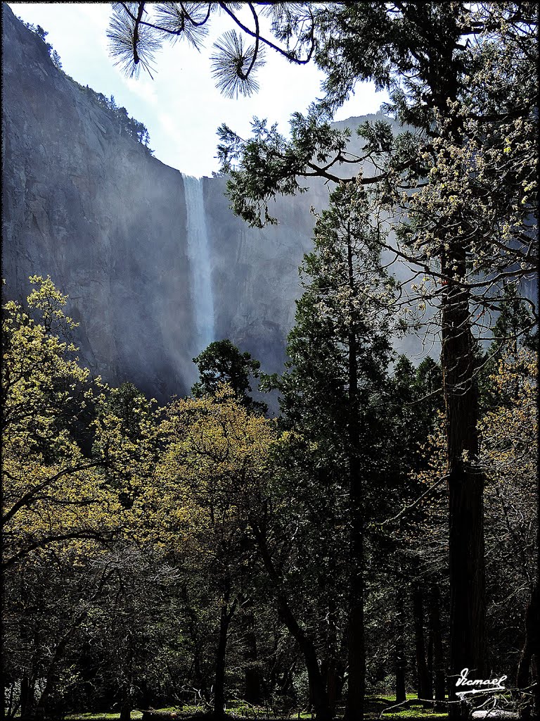
[(50, 275), (92, 371), (178, 391), (194, 341), (181, 174), (119, 136), (2, 9), (4, 292), (22, 298), (29, 275)]

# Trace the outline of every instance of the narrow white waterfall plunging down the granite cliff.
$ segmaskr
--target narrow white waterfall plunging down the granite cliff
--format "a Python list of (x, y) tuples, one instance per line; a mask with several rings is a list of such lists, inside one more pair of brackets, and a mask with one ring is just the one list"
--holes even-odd
[(187, 252), (192, 272), (192, 312), (197, 329), (197, 353), (200, 353), (215, 340), (210, 247), (202, 182), (192, 175), (182, 174), (182, 177), (186, 196)]

